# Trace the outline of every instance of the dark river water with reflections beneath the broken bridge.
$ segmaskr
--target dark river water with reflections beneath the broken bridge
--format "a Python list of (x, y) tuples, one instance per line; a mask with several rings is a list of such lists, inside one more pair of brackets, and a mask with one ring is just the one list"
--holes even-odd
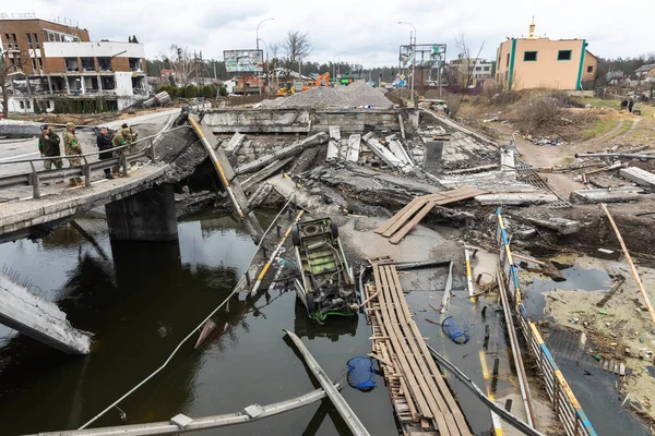
[[(262, 215), (262, 226), (274, 215)], [(8, 268), (56, 301), (73, 326), (95, 334), (92, 354), (80, 358), (0, 326), (2, 434), (76, 428), (105, 409), (157, 368), (231, 292), (255, 249), (233, 217), (217, 213), (180, 222), (174, 243), (110, 243), (104, 221), (79, 223), (95, 243), (67, 226), (43, 241), (0, 245)], [(296, 300), (278, 289), (253, 300), (234, 295), (213, 317), (217, 329), (200, 350), (193, 350), (193, 337), (120, 404), (127, 422), (229, 413), (314, 389), (283, 341), (283, 328), (297, 329), (327, 374), (343, 377), (348, 359), (370, 351), (370, 329), (357, 317), (332, 328), (312, 325)], [(346, 387), (343, 395), (372, 434), (397, 434), (385, 389), (362, 393)], [(94, 425), (120, 424), (116, 410)], [(204, 434), (330, 435), (345, 428), (329, 402), (318, 402)]]

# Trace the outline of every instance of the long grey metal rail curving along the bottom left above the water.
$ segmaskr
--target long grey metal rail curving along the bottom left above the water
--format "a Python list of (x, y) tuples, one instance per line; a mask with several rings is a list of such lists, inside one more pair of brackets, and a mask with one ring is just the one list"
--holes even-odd
[[(340, 385), (334, 384), (334, 388), (338, 389)], [(262, 405), (262, 412), (251, 417), (245, 411), (235, 413), (227, 413), (224, 415), (213, 415), (196, 417), (186, 427), (180, 428), (176, 424), (170, 422), (160, 421), (146, 424), (134, 424), (134, 425), (120, 425), (115, 427), (99, 427), (90, 429), (78, 429), (69, 432), (48, 432), (39, 433), (38, 436), (145, 436), (145, 435), (177, 435), (179, 433), (198, 432), (201, 429), (224, 427), (227, 425), (243, 424), (252, 421), (262, 420), (264, 417), (277, 415), (281, 413), (289, 412), (302, 408), (307, 404), (311, 404), (325, 398), (325, 390), (315, 389), (311, 392), (290, 398), (288, 400), (274, 402), (272, 404)], [(33, 435), (36, 436), (36, 435)]]

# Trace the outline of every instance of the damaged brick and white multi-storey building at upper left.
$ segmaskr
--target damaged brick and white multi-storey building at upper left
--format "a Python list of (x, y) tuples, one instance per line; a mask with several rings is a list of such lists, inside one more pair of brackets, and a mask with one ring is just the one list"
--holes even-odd
[(150, 95), (142, 44), (92, 41), (71, 20), (4, 14), (0, 52), (11, 78), (10, 112), (122, 110)]

